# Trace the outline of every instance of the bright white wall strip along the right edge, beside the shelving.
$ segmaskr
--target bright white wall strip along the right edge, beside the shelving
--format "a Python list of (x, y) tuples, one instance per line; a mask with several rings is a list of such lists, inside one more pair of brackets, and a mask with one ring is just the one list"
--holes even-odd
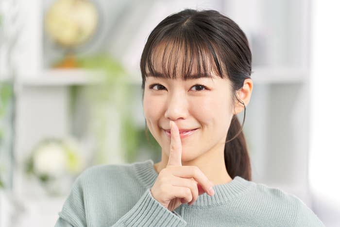
[(312, 5), (309, 180), (313, 208), (326, 226), (340, 223), (340, 3)]

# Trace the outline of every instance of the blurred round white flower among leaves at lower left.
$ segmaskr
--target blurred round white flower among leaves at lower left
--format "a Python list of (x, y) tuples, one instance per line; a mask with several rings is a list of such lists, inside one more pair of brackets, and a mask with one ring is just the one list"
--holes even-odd
[(65, 172), (67, 155), (62, 146), (57, 143), (48, 143), (41, 146), (34, 153), (34, 171), (37, 174), (46, 174), (58, 177)]

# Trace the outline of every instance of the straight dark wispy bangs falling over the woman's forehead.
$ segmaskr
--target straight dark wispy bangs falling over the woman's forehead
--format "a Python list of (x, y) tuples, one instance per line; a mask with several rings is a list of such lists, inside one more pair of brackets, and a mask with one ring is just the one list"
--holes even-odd
[[(202, 31), (187, 31), (181, 27), (167, 37), (154, 35), (141, 57), (141, 72), (144, 87), (148, 76), (183, 80), (218, 75), (227, 78), (218, 58), (216, 45)], [(220, 55), (221, 56), (221, 55)], [(223, 76), (224, 75), (224, 76)]]

